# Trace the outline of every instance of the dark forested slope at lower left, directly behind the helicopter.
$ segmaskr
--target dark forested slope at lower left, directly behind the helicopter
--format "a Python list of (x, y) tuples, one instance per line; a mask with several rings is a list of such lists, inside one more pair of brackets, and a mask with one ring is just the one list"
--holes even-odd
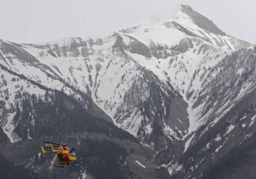
[[(1, 73), (4, 73), (2, 87), (16, 86), (14, 94), (11, 93), (13, 91), (3, 89), (5, 97), (15, 96), (13, 103), (8, 99), (11, 107), (4, 105), (6, 101), (1, 101), (1, 125), (4, 132), (1, 132), (0, 148), (10, 162), (10, 167), (12, 163), (17, 166), (12, 167), (13, 171), (27, 168), (24, 170), (26, 177), (31, 175), (38, 178), (78, 178), (82, 175), (95, 178), (156, 178), (158, 173), (162, 173), (163, 178), (167, 176), (165, 169), (159, 170), (151, 162), (155, 151), (141, 146), (132, 135), (113, 123), (94, 117), (76, 99), (37, 83), (32, 85), (25, 77), (8, 74), (3, 69)], [(8, 80), (9, 77), (13, 80)], [(29, 86), (35, 88), (35, 91)], [(3, 141), (6, 135), (12, 143)], [(45, 140), (75, 142), (79, 167), (71, 167), (61, 173), (54, 169), (56, 158), (51, 155), (43, 158), (39, 150), (34, 150)], [(135, 161), (140, 161), (148, 168), (138, 168)], [(9, 176), (18, 178), (14, 173)]]

